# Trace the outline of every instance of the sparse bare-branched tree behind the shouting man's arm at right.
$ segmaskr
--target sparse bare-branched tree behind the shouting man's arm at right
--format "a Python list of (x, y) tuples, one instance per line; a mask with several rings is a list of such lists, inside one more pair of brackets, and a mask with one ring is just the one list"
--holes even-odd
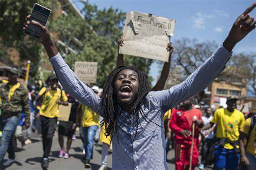
[[(180, 79), (176, 80), (177, 83), (185, 80), (185, 78), (194, 72), (199, 66), (201, 66), (217, 49), (218, 44), (214, 41), (198, 42), (197, 39), (182, 38), (176, 40), (173, 43), (173, 57), (172, 57), (172, 70), (176, 67), (181, 67), (182, 71), (179, 75)], [(232, 82), (234, 79), (241, 81), (242, 86), (247, 87), (248, 91), (252, 93), (256, 92), (255, 88), (255, 75), (253, 70), (255, 69), (255, 55), (256, 54), (235, 54), (230, 61), (227, 62), (224, 72), (220, 73), (218, 77), (226, 82)], [(172, 74), (171, 74), (172, 75)], [(200, 101), (204, 96), (204, 92), (200, 93), (197, 98)]]

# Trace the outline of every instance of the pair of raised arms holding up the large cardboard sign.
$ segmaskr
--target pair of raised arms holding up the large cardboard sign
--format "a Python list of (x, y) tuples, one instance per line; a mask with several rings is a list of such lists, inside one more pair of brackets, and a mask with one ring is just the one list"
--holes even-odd
[[(124, 54), (120, 54), (119, 53), (119, 47), (124, 45), (124, 38), (121, 37), (118, 40), (118, 55), (117, 55), (117, 67), (124, 65)], [(163, 90), (164, 86), (165, 86), (165, 82), (168, 78), (169, 75), (169, 71), (170, 71), (170, 67), (171, 67), (171, 58), (172, 58), (172, 52), (173, 52), (173, 47), (172, 47), (172, 43), (168, 43), (167, 44), (167, 51), (170, 52), (169, 54), (169, 62), (165, 62), (164, 63), (164, 67), (161, 71), (161, 75), (159, 77), (159, 80), (157, 81), (156, 85), (151, 89), (151, 91), (159, 91), (159, 90)]]

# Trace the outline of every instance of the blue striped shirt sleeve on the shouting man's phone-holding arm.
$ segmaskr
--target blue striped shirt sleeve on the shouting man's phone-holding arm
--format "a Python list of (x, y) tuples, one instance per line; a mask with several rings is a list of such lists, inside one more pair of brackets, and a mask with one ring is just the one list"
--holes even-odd
[(78, 79), (76, 74), (65, 63), (62, 56), (58, 53), (50, 58), (50, 62), (64, 90), (73, 98), (76, 98), (76, 100), (102, 116), (100, 113), (102, 100), (100, 100), (98, 95), (96, 95), (91, 88), (87, 87)]

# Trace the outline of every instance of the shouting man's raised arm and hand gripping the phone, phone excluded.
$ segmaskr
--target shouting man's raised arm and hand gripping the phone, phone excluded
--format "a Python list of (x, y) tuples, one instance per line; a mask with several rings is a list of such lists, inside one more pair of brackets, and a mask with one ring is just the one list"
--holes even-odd
[(57, 47), (51, 39), (50, 32), (46, 26), (32, 20), (29, 22), (30, 15), (26, 17), (26, 22), (23, 29), (28, 28), (29, 24), (38, 26), (41, 29), (41, 42), (49, 56), (52, 67), (58, 77), (59, 82), (73, 98), (76, 98), (81, 103), (87, 105), (90, 109), (100, 114), (102, 101), (91, 88), (87, 87), (82, 81), (78, 79), (75, 73), (65, 63), (62, 56), (59, 54)]

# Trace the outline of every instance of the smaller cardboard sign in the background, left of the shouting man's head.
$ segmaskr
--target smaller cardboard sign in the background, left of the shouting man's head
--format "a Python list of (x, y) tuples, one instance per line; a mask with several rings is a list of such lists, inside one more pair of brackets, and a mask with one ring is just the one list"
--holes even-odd
[(84, 83), (96, 83), (97, 62), (75, 62), (75, 74)]

